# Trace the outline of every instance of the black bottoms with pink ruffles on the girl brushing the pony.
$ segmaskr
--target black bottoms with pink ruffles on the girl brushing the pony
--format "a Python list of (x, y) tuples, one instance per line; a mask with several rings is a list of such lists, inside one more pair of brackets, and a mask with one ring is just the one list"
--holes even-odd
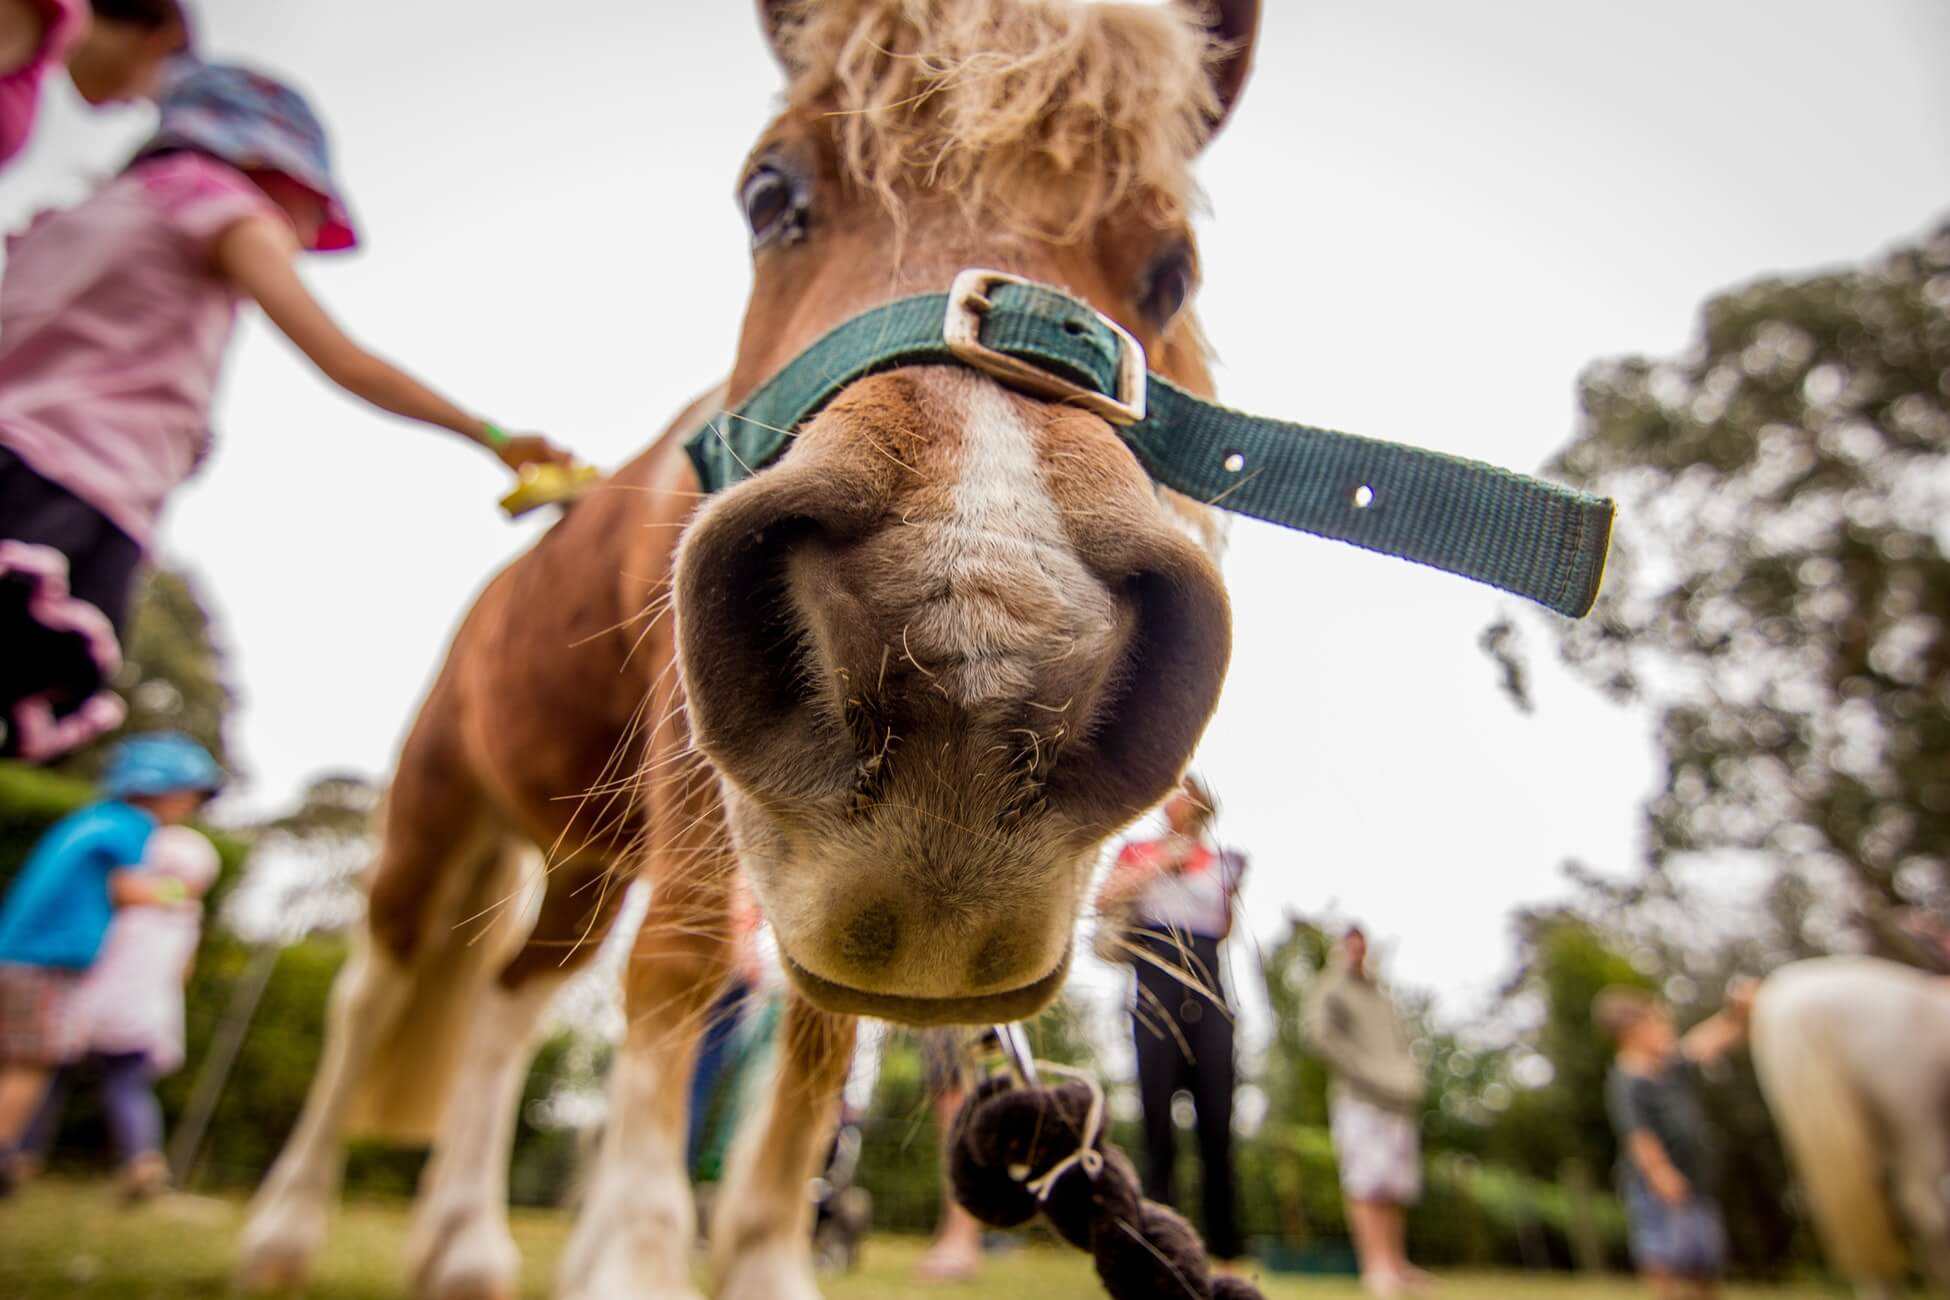
[(0, 758), (47, 762), (117, 727), (142, 548), (0, 446)]

